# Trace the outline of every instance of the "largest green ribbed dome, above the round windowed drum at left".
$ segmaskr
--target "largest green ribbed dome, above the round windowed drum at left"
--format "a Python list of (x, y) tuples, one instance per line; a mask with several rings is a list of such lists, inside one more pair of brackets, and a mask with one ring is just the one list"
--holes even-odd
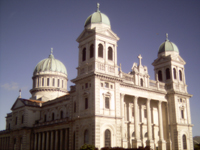
[(41, 60), (35, 67), (33, 74), (45, 71), (60, 72), (67, 75), (67, 69), (65, 65), (54, 58), (52, 52), (48, 58)]

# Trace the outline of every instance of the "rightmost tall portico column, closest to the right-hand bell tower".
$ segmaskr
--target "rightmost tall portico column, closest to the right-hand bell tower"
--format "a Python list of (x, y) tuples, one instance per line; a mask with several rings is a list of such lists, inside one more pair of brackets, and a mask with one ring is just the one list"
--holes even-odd
[(158, 149), (159, 150), (166, 150), (166, 142), (163, 139), (162, 101), (158, 102), (158, 118), (159, 118)]

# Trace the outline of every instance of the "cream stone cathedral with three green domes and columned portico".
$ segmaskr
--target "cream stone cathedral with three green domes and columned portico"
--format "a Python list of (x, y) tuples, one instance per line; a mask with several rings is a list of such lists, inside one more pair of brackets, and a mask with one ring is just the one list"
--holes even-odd
[(118, 40), (98, 4), (77, 38), (74, 86), (67, 90), (66, 67), (51, 51), (33, 71), (31, 98), (19, 96), (7, 114), (0, 150), (78, 150), (84, 143), (99, 149), (192, 150), (192, 95), (178, 47), (166, 35), (150, 80), (141, 55), (131, 72), (122, 71)]

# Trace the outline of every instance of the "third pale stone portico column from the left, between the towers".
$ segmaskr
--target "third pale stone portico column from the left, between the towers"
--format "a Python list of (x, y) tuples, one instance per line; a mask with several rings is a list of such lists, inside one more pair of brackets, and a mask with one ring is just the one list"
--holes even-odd
[(146, 107), (147, 107), (147, 133), (148, 133), (146, 145), (150, 146), (152, 149), (154, 149), (154, 141), (152, 140), (150, 99), (147, 99)]

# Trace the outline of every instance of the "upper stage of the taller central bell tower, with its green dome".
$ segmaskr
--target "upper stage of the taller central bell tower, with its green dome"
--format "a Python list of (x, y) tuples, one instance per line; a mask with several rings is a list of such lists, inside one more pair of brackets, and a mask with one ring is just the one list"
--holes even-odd
[(109, 18), (99, 11), (90, 15), (83, 32), (77, 38), (79, 62), (77, 77), (90, 73), (118, 75), (117, 41), (119, 37), (111, 30)]

